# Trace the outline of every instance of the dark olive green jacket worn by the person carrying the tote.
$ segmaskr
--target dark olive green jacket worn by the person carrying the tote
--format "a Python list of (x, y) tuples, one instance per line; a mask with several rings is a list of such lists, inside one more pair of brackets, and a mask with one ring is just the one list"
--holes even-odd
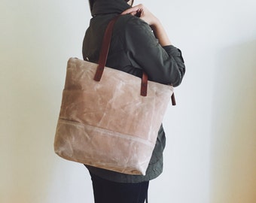
[[(84, 60), (98, 62), (106, 26), (113, 17), (127, 8), (130, 6), (124, 0), (97, 0), (94, 3), (93, 18), (90, 20), (90, 26), (84, 36)], [(181, 51), (172, 45), (161, 47), (154, 37), (151, 27), (139, 17), (130, 14), (119, 17), (114, 25), (106, 65), (138, 77), (141, 77), (142, 71), (145, 71), (148, 74), (148, 80), (173, 86), (178, 86), (181, 83), (185, 72)], [(163, 171), (165, 144), (166, 137), (163, 126), (161, 126), (145, 176), (120, 174), (92, 166), (87, 166), (87, 168), (90, 173), (120, 183), (152, 180)]]

